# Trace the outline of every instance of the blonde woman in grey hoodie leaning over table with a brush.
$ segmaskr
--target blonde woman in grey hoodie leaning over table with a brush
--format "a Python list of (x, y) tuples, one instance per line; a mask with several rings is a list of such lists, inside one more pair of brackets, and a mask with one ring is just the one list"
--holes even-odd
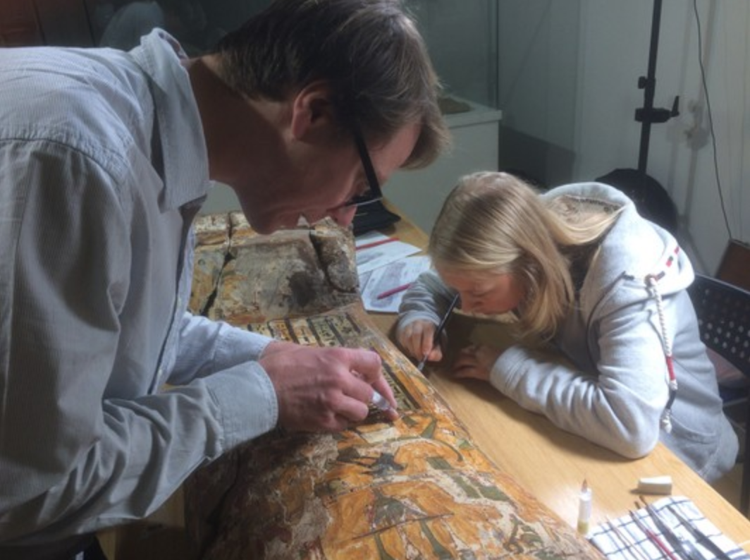
[(523, 337), (463, 348), (456, 377), (489, 381), (622, 456), (661, 440), (706, 480), (732, 467), (737, 438), (685, 291), (691, 263), (620, 191), (589, 182), (538, 194), (508, 173), (475, 173), (446, 200), (429, 252), (434, 270), (400, 310), (408, 354), (442, 359), (433, 337), (458, 292), (463, 312), (509, 313)]

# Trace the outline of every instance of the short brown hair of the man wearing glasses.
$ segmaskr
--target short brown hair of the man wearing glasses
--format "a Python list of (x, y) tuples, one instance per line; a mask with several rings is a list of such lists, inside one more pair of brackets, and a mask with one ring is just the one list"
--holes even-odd
[(425, 167), (448, 143), (437, 75), (398, 0), (276, 0), (215, 53), (222, 79), (248, 98), (282, 101), (325, 80), (342, 128), (373, 143), (421, 124), (404, 167)]

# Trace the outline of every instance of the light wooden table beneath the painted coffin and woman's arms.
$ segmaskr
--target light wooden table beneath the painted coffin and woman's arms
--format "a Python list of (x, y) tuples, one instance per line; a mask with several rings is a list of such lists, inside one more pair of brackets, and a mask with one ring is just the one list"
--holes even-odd
[[(383, 233), (419, 247), (428, 241), (407, 218)], [(395, 322), (392, 314), (370, 316), (385, 333)], [(592, 525), (598, 525), (634, 509), (640, 477), (668, 474), (673, 495), (690, 498), (727, 537), (750, 552), (750, 520), (663, 444), (642, 459), (624, 459), (523, 410), (487, 383), (454, 381), (437, 370), (430, 373), (430, 381), (484, 453), (571, 525), (576, 525), (584, 479), (594, 496)]]

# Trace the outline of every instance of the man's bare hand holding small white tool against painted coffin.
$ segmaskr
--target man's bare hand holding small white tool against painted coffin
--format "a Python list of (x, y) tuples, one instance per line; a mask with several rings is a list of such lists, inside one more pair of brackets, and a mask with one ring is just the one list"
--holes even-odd
[(272, 342), (260, 365), (276, 390), (280, 426), (307, 432), (338, 432), (368, 416), (373, 390), (396, 400), (383, 377), (380, 356), (353, 348), (316, 348)]

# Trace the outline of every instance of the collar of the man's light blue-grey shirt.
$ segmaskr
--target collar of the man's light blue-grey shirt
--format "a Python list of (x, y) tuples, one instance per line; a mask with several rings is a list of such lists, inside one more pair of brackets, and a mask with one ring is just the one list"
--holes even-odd
[(130, 55), (151, 78), (163, 160), (161, 204), (178, 208), (205, 197), (210, 185), (208, 152), (190, 79), (181, 65), (187, 55), (163, 29), (154, 29), (143, 37)]

